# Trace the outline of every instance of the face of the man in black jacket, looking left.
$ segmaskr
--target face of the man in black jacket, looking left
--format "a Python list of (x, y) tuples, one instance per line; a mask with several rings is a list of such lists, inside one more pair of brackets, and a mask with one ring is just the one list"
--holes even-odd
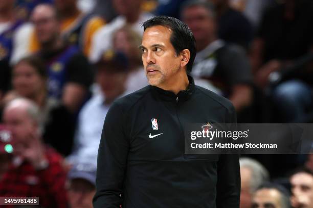
[(149, 84), (160, 88), (177, 79), (181, 55), (170, 42), (171, 30), (161, 25), (147, 28), (142, 39), (142, 61)]

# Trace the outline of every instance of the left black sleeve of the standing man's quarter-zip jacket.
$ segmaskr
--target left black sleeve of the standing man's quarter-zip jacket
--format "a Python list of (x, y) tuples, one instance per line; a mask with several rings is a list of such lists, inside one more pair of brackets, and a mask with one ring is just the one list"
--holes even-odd
[(120, 207), (122, 204), (128, 139), (125, 135), (125, 119), (121, 108), (114, 103), (109, 109), (98, 150), (95, 208)]

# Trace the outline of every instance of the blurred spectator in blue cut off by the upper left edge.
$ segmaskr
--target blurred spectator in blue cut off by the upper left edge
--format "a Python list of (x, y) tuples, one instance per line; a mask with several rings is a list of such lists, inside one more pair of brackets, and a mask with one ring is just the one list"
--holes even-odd
[(10, 60), (16, 42), (16, 31), (23, 24), (14, 14), (14, 1), (0, 1), (0, 100), (9, 89)]

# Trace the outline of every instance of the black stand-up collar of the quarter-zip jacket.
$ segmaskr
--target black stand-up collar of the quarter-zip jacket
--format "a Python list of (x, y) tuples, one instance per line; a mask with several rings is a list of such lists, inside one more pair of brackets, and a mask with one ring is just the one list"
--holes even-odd
[(186, 90), (181, 90), (180, 92), (175, 95), (172, 91), (163, 90), (159, 87), (151, 86), (151, 91), (154, 96), (160, 97), (161, 99), (168, 100), (168, 101), (185, 101), (191, 97), (194, 93), (194, 81), (192, 76), (188, 75), (189, 85)]

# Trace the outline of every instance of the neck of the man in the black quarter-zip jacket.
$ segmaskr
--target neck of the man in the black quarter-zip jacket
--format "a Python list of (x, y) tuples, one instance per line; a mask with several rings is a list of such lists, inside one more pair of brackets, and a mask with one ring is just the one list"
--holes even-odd
[[(188, 76), (186, 73), (186, 69), (180, 69), (181, 72), (178, 73), (178, 76), (175, 77), (175, 79), (172, 79), (171, 81), (167, 82), (166, 85), (160, 85), (157, 86), (163, 90), (171, 91), (175, 93), (175, 95), (178, 94), (181, 90), (186, 90), (189, 85)], [(177, 82), (179, 80), (180, 82)]]

